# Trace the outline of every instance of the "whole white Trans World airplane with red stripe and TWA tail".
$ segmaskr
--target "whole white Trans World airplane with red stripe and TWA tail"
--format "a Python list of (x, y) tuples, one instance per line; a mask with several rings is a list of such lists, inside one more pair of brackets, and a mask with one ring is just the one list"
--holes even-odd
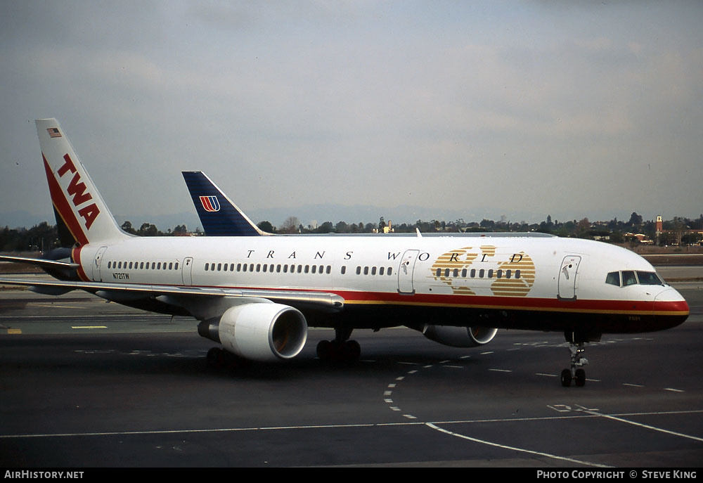
[(84, 290), (193, 316), (198, 333), (221, 344), (209, 350), (209, 363), (292, 359), (309, 326), (335, 329), (334, 340), (317, 346), (325, 360), (358, 359), (361, 347), (350, 337), (361, 328), (406, 326), (452, 347), (487, 344), (501, 328), (540, 330), (564, 333), (571, 363), (561, 383), (583, 386), (588, 342), (672, 328), (690, 313), (649, 262), (593, 240), (419, 232), (131, 236), (117, 226), (59, 123), (36, 125), (53, 206), (77, 242), (70, 261), (35, 263), (76, 276), (0, 283), (51, 295)]

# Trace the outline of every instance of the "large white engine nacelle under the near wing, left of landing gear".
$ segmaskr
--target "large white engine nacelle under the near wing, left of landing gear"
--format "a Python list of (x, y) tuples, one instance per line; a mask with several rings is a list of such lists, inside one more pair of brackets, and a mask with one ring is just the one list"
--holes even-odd
[(292, 359), (307, 341), (307, 322), (299, 310), (283, 304), (243, 304), (230, 307), (218, 321), (198, 325), (203, 337), (252, 361)]

